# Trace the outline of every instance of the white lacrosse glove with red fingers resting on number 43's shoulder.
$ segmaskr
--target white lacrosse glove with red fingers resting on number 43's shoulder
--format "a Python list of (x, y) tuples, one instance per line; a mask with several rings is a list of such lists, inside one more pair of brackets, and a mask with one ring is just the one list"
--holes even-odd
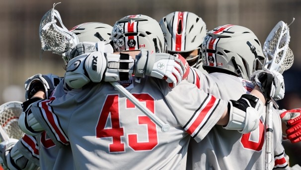
[(169, 55), (165, 53), (149, 54), (141, 50), (136, 58), (135, 76), (144, 75), (165, 79), (170, 87), (175, 87), (182, 79), (188, 76), (188, 63), (181, 55)]

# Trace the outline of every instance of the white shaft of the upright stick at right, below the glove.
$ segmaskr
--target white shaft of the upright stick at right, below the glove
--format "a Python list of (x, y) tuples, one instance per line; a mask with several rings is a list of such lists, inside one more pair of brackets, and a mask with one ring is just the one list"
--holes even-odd
[(266, 140), (265, 140), (265, 170), (272, 170), (272, 153), (273, 153), (273, 103), (269, 101), (267, 103), (266, 112)]

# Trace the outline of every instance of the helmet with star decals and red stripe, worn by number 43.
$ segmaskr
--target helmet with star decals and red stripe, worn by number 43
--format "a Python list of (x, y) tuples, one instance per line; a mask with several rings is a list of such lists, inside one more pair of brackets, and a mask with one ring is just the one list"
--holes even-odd
[(164, 53), (163, 32), (159, 23), (146, 15), (128, 15), (118, 20), (112, 30), (114, 52), (146, 49)]

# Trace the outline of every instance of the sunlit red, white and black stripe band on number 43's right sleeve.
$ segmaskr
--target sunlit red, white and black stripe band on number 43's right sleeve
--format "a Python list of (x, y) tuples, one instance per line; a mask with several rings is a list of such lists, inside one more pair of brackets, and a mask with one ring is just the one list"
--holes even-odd
[(216, 99), (214, 96), (208, 94), (199, 110), (192, 115), (190, 120), (184, 126), (184, 129), (188, 132), (188, 134), (195, 137), (207, 123), (219, 103), (220, 99)]

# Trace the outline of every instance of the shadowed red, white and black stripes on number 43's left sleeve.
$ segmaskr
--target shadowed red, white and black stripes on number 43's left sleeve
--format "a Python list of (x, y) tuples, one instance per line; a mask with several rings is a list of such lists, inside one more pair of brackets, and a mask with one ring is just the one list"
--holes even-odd
[[(54, 98), (52, 98), (53, 100)], [(38, 103), (40, 108), (40, 112), (42, 113), (43, 118), (49, 125), (52, 133), (55, 135), (58, 142), (63, 145), (69, 145), (69, 139), (65, 134), (64, 130), (61, 128), (60, 123), (58, 122), (58, 118), (55, 113), (53, 113), (52, 108), (49, 106), (49, 103), (52, 100), (44, 100)]]

